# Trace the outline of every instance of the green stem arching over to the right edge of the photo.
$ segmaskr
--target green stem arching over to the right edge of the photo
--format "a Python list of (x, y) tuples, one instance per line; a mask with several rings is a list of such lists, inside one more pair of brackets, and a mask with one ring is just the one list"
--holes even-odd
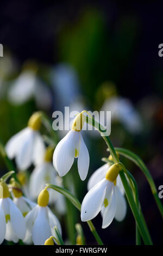
[(124, 157), (127, 157), (129, 160), (131, 160), (132, 162), (134, 162), (143, 172), (143, 174), (146, 176), (147, 181), (149, 183), (149, 186), (151, 187), (151, 191), (153, 193), (155, 202), (158, 206), (158, 209), (160, 211), (160, 214), (163, 218), (163, 206), (161, 204), (161, 201), (158, 197), (158, 191), (156, 189), (156, 186), (154, 184), (153, 178), (151, 176), (151, 174), (149, 173), (148, 168), (146, 167), (145, 163), (141, 160), (141, 158), (139, 156), (137, 156), (136, 154), (134, 154), (133, 152), (131, 152), (128, 149), (123, 149), (123, 148), (115, 148), (116, 152)]

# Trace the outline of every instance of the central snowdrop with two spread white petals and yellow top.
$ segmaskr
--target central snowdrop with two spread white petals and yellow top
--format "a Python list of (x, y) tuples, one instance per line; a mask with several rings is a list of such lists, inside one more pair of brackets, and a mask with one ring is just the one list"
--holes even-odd
[(78, 158), (78, 172), (81, 180), (85, 180), (89, 169), (90, 157), (81, 134), (84, 125), (83, 112), (74, 118), (72, 129), (61, 139), (54, 150), (53, 165), (60, 176), (71, 169), (74, 158)]

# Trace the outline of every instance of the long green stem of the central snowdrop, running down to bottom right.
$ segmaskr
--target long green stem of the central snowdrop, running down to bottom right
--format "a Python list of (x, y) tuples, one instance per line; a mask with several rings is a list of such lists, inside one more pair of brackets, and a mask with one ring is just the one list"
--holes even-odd
[[(86, 123), (95, 127), (99, 131), (99, 133), (101, 133), (101, 135), (103, 136), (104, 141), (108, 145), (110, 154), (111, 154), (112, 159), (114, 160), (114, 162), (115, 163), (120, 162), (109, 137), (105, 136), (104, 127), (102, 127), (102, 125), (99, 125), (99, 123), (97, 121), (95, 121), (95, 119), (89, 118), (87, 116), (85, 117), (85, 121), (86, 121)], [(122, 183), (123, 183), (123, 186), (124, 186), (124, 190), (126, 192), (126, 196), (127, 196), (131, 211), (133, 212), (136, 224), (139, 227), (139, 231), (140, 231), (140, 234), (143, 238), (143, 241), (145, 242), (146, 245), (152, 245), (152, 241), (149, 239), (148, 234), (147, 234), (147, 228), (145, 227), (145, 223), (143, 223), (142, 218), (139, 214), (139, 209), (137, 208), (137, 205), (135, 204), (133, 194), (130, 191), (128, 181), (127, 181), (126, 176), (124, 175), (123, 171), (120, 172), (120, 177), (121, 177), (121, 180), (122, 180)]]

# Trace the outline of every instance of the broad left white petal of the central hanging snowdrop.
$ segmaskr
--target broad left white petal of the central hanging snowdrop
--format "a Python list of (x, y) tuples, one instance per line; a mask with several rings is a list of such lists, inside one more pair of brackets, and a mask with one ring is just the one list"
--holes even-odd
[(60, 176), (66, 175), (74, 162), (74, 131), (70, 131), (61, 139), (54, 150), (53, 165)]

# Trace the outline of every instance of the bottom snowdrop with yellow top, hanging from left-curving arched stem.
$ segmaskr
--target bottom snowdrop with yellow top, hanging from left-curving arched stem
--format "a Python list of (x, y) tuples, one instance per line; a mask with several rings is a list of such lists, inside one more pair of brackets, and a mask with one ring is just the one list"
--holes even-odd
[(61, 226), (58, 218), (48, 208), (49, 193), (47, 188), (41, 191), (37, 199), (37, 205), (26, 217), (27, 233), (23, 240), (28, 241), (32, 236), (34, 245), (44, 245), (49, 236), (54, 236), (54, 227), (57, 226), (61, 233)]

